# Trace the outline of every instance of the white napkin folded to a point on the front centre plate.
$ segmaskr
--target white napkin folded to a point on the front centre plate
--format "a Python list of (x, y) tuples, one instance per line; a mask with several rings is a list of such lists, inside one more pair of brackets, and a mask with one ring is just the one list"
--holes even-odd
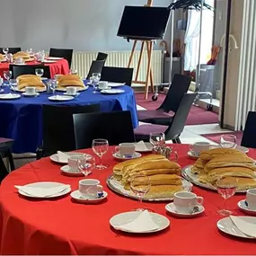
[(119, 226), (115, 226), (116, 229), (128, 231), (128, 232), (147, 232), (153, 231), (159, 228), (159, 225), (154, 223), (150, 213), (145, 210), (136, 219)]

